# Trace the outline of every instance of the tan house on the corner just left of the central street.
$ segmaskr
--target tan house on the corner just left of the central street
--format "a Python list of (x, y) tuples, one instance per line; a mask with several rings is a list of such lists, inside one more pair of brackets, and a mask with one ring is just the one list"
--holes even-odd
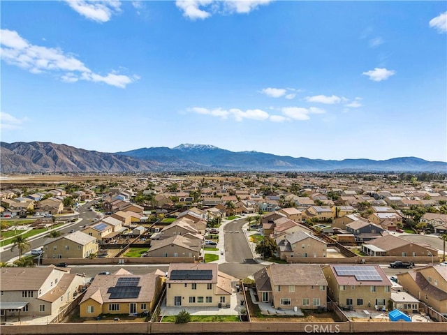
[(166, 239), (152, 240), (147, 257), (193, 257), (199, 259), (202, 240), (174, 235)]

